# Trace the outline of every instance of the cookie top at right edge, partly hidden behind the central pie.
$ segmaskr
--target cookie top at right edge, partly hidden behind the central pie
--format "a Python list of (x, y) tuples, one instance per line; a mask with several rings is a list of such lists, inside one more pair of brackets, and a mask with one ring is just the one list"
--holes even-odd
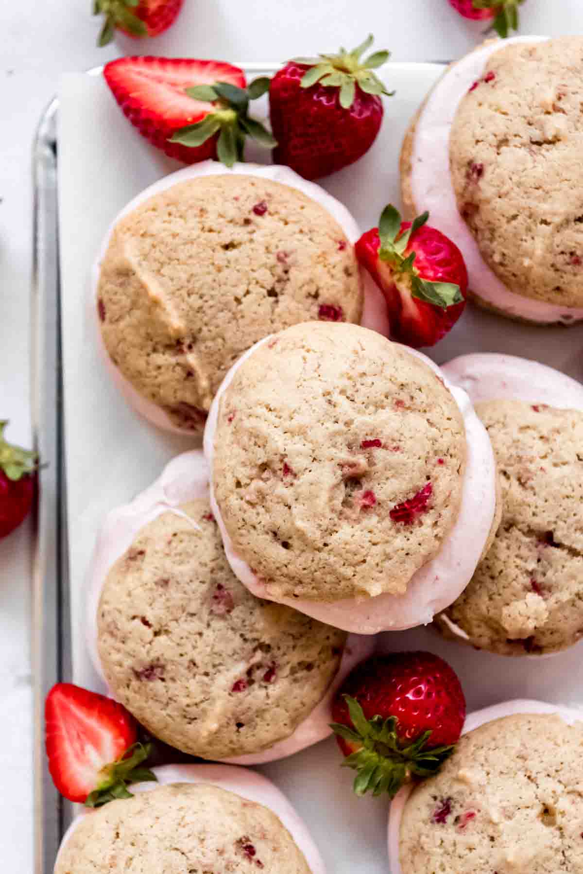
[(496, 454), (503, 517), (445, 614), (481, 649), (564, 649), (583, 635), (583, 413), (517, 400), (475, 410)]

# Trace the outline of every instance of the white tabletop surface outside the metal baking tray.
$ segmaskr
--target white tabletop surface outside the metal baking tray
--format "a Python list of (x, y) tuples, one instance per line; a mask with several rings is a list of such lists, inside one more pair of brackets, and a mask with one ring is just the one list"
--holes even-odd
[[(394, 60), (459, 56), (480, 38), (447, 0), (185, 0), (177, 24), (147, 45), (95, 47), (90, 0), (0, 2), (0, 419), (29, 444), (31, 142), (59, 75), (138, 52), (279, 60), (359, 42), (369, 32)], [(523, 33), (583, 33), (580, 0), (526, 0)], [(5, 871), (31, 874), (31, 533), (0, 542), (0, 850)]]

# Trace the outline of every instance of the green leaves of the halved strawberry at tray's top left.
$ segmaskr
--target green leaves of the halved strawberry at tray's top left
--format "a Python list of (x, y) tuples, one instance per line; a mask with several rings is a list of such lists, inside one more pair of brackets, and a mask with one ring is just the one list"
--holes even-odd
[(189, 97), (212, 103), (215, 111), (205, 115), (202, 121), (179, 128), (170, 136), (169, 142), (196, 147), (219, 134), (217, 157), (226, 167), (233, 167), (236, 161), (243, 160), (246, 136), (251, 136), (267, 149), (273, 149), (277, 145), (274, 137), (260, 121), (250, 118), (248, 114), (249, 101), (267, 94), (269, 83), (267, 76), (260, 76), (246, 88), (239, 88), (230, 82), (186, 88)]

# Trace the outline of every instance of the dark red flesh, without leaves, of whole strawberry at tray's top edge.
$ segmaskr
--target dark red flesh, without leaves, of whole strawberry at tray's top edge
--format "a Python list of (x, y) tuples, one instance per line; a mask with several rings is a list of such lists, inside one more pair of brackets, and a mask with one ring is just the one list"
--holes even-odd
[(316, 83), (302, 88), (309, 66), (290, 61), (269, 88), (271, 128), (278, 145), (274, 162), (305, 179), (318, 179), (354, 163), (371, 148), (383, 121), (383, 103), (357, 86), (350, 109), (339, 89)]

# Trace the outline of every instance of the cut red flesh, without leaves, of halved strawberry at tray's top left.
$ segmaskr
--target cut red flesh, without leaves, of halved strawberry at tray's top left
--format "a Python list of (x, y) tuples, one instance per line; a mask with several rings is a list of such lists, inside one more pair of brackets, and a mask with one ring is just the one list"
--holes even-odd
[(246, 87), (245, 73), (239, 67), (214, 60), (119, 58), (106, 64), (103, 75), (122, 112), (142, 136), (184, 163), (216, 158), (218, 139), (214, 135), (193, 148), (168, 142), (179, 128), (214, 112), (211, 103), (194, 100), (185, 89), (218, 81)]

